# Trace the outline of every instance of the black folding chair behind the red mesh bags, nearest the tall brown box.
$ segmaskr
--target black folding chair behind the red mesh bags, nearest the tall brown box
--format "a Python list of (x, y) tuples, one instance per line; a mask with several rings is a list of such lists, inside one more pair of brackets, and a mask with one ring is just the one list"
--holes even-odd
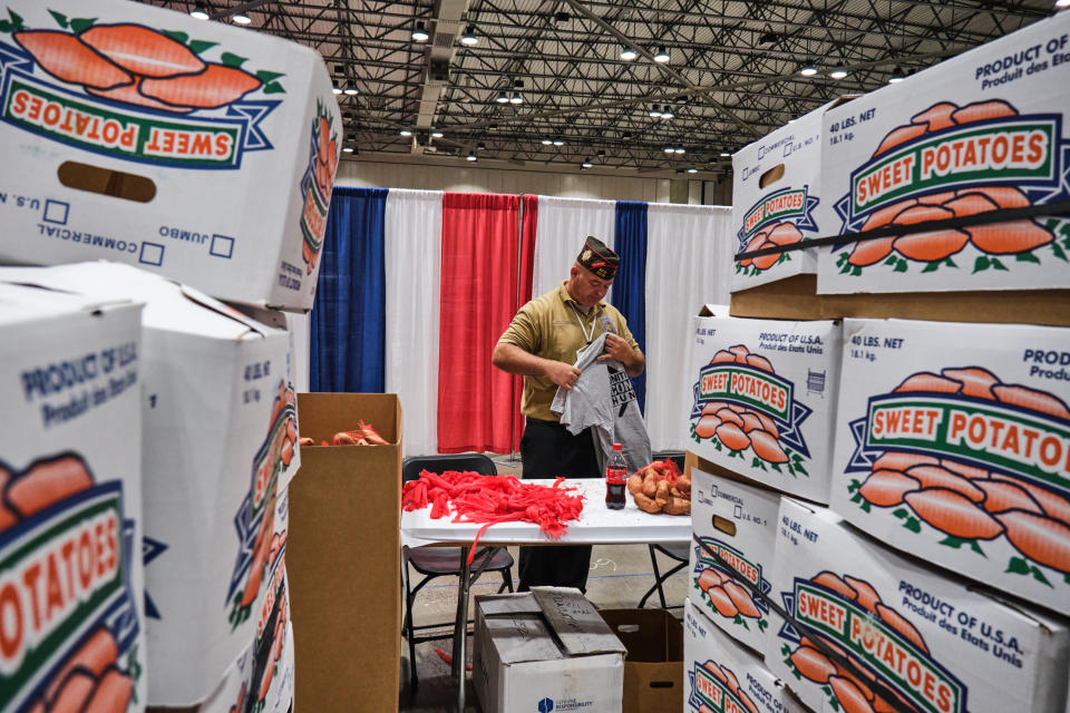
[[(441, 473), (447, 470), (474, 471), (485, 476), (498, 475), (498, 469), (494, 461), (481, 453), (455, 453), (445, 456), (415, 456), (406, 458), (401, 463), (401, 481), (408, 482), (420, 477), (420, 472), (428, 470), (430, 472)], [(483, 565), (488, 551), (490, 560), (484, 567), (484, 572), (502, 573), (502, 586), (498, 594), (508, 589), (513, 592), (513, 556), (504, 547), (480, 547), (476, 550), (473, 560), (473, 569)], [(439, 624), (412, 623), (412, 604), (416, 595), (424, 586), (436, 577), (454, 577), (460, 579), (460, 547), (416, 547), (401, 548), (401, 580), (405, 584), (405, 619), (401, 624), (401, 634), (409, 643), (409, 677), (412, 688), (419, 685), (419, 678), (416, 674), (416, 645), (424, 642), (438, 641), (453, 637), (454, 622), (442, 622)], [(424, 578), (415, 586), (409, 588), (410, 574), (409, 567), (424, 575)], [(418, 635), (417, 632), (428, 628), (449, 627), (447, 634), (427, 634)], [(466, 624), (467, 626), (467, 624)]]

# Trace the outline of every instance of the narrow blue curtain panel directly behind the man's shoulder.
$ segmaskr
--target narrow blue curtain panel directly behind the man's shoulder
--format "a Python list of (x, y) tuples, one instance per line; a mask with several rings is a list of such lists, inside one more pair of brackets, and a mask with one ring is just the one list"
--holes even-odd
[[(613, 280), (613, 306), (628, 320), (628, 329), (646, 353), (646, 204), (616, 202), (613, 248), (621, 267)], [(639, 408), (646, 408), (646, 372), (632, 379)]]

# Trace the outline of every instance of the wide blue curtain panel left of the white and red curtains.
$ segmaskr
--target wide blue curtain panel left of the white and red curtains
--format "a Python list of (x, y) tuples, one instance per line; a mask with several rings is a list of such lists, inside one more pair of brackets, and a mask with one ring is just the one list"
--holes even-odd
[(383, 391), (386, 207), (386, 188), (334, 187), (312, 309), (312, 391)]

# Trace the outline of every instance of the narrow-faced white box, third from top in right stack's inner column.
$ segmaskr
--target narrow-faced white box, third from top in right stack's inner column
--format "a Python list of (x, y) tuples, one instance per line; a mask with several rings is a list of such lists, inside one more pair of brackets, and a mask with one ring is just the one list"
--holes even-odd
[(780, 495), (691, 468), (691, 546), (688, 598), (729, 636), (765, 651), (769, 605), (753, 596), (772, 588), (772, 547)]

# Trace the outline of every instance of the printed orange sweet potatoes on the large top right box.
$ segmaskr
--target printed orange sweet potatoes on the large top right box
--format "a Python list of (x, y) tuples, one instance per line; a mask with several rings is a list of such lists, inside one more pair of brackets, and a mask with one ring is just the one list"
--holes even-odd
[[(916, 114), (912, 117), (911, 124), (889, 131), (874, 152), (870, 160), (893, 152), (893, 149), (907, 141), (925, 139), (935, 131), (1014, 116), (1018, 116), (1014, 107), (1001, 100), (977, 101), (964, 107), (941, 101)], [(959, 153), (954, 154), (957, 157), (955, 160), (984, 166), (992, 160), (1002, 163), (1012, 154), (1013, 156), (1024, 156), (1039, 150), (1031, 144), (1018, 145), (1006, 137), (1002, 138), (1005, 140), (993, 139), (979, 146), (967, 144), (965, 147), (959, 147)], [(941, 145), (935, 149), (934, 160), (937, 168), (944, 162), (951, 160), (951, 152), (952, 148), (947, 145)], [(976, 155), (977, 152), (990, 152), (991, 156), (984, 158)], [(869, 215), (860, 229), (866, 232), (882, 227), (915, 225), (930, 221), (947, 221), (990, 211), (1023, 208), (1030, 205), (1029, 197), (1014, 185), (966, 186), (908, 197), (881, 207)], [(1028, 255), (1031, 251), (1052, 243), (1054, 240), (1056, 236), (1050, 229), (1031, 218), (982, 223), (956, 228), (937, 228), (862, 240), (854, 243), (849, 252), (845, 251), (837, 264), (840, 272), (854, 270), (852, 274), (857, 275), (860, 274), (862, 267), (887, 261), (888, 264), (895, 262), (897, 264), (896, 270), (902, 272), (906, 270), (906, 263), (899, 263), (898, 261), (905, 258), (924, 263), (926, 265), (924, 271), (932, 272), (940, 265), (954, 266), (953, 263), (945, 261), (962, 252), (967, 245), (973, 245), (985, 255), (993, 256), (979, 257), (974, 267), (975, 272), (986, 270), (990, 266), (996, 270), (1006, 270), (996, 256)], [(1032, 255), (1019, 258), (1027, 262), (1038, 262), (1038, 258)]]

